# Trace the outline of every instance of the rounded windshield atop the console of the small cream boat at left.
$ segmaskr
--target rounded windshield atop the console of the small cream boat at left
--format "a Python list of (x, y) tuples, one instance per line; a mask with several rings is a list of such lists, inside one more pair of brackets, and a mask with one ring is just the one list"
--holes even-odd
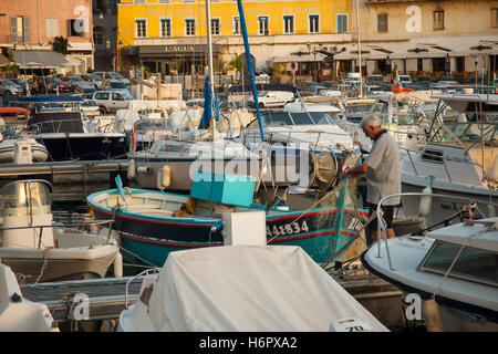
[(1, 216), (29, 216), (50, 214), (52, 198), (45, 184), (15, 183), (0, 191)]

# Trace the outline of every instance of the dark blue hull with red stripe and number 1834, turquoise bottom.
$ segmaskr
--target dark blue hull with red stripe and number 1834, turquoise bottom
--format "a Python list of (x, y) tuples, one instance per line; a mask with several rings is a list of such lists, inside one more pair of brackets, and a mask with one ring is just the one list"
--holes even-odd
[[(147, 192), (165, 194), (153, 190), (131, 189), (132, 195)], [(135, 254), (138, 263), (153, 263), (162, 267), (169, 252), (189, 248), (222, 246), (224, 237), (220, 230), (211, 231), (211, 227), (221, 218), (196, 218), (158, 216), (156, 212), (132, 212), (125, 209), (105, 207), (97, 201), (100, 194), (117, 198), (117, 189), (97, 192), (89, 196), (89, 207), (96, 219), (114, 219), (114, 228), (121, 237), (122, 246)], [(176, 198), (188, 196), (174, 195)], [(263, 209), (253, 205), (251, 209)], [(247, 209), (246, 209), (247, 210)], [(331, 258), (336, 248), (342, 244), (335, 236), (335, 208), (311, 209), (307, 211), (276, 211), (267, 214), (267, 240), (269, 244), (300, 246), (310, 257), (321, 263)], [(359, 211), (366, 216), (363, 210)], [(357, 225), (356, 212), (345, 209), (343, 212), (341, 237), (356, 238), (354, 225)], [(128, 252), (125, 252), (128, 253)], [(123, 254), (126, 258), (127, 254)]]

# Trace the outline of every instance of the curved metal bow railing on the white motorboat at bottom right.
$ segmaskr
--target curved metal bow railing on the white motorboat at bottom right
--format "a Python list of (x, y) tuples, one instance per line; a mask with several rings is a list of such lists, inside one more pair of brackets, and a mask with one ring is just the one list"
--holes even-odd
[[(381, 236), (377, 237), (377, 256), (376, 256), (376, 257), (377, 257), (377, 258), (382, 258), (382, 254), (381, 254), (381, 242), (382, 242), (382, 241), (381, 241), (381, 240), (384, 239), (384, 244), (385, 244), (385, 251), (386, 251), (386, 256), (387, 256), (387, 261), (388, 261), (388, 264), (390, 264), (390, 269), (391, 269), (392, 271), (395, 271), (396, 269), (393, 267), (393, 261), (392, 261), (392, 259), (391, 259), (390, 247), (388, 247), (388, 242), (387, 242), (387, 230), (386, 230), (386, 225), (385, 225), (385, 222), (384, 222), (384, 219), (383, 219), (382, 216), (381, 216), (381, 209), (382, 209), (382, 205), (383, 205), (386, 200), (390, 200), (390, 199), (396, 198), (396, 197), (406, 197), (406, 196), (421, 196), (421, 197), (430, 197), (430, 198), (437, 197), (437, 198), (443, 198), (443, 199), (452, 199), (452, 200), (467, 201), (467, 202), (469, 202), (469, 204), (476, 202), (475, 199), (467, 198), (467, 197), (460, 197), (460, 196), (454, 196), (454, 195), (440, 195), (440, 194), (416, 192), (416, 191), (413, 191), (413, 192), (397, 192), (397, 194), (388, 195), (388, 196), (385, 196), (384, 198), (382, 198), (382, 199), (378, 201), (377, 208), (376, 208), (376, 210), (375, 210), (376, 217), (377, 217), (377, 230), (381, 230)], [(421, 199), (421, 201), (422, 201), (422, 199)], [(495, 208), (498, 208), (498, 204), (492, 202), (492, 201), (484, 201), (484, 200), (479, 200), (478, 202), (481, 204), (481, 205), (485, 204), (485, 205), (488, 205), (488, 206), (490, 205), (490, 206), (494, 206)], [(481, 210), (479, 210), (479, 208), (476, 207), (476, 210), (479, 211), (479, 214), (480, 214), (483, 217), (486, 217), (486, 215), (485, 215)]]

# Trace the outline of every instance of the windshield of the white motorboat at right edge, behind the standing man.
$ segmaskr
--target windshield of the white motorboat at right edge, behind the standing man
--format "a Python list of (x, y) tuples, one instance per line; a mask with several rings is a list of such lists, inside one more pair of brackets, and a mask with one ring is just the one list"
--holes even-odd
[(484, 138), (486, 146), (498, 146), (497, 125), (487, 123), (446, 123), (447, 129), (439, 127), (433, 135), (432, 142), (445, 145), (459, 145), (459, 143), (475, 143)]

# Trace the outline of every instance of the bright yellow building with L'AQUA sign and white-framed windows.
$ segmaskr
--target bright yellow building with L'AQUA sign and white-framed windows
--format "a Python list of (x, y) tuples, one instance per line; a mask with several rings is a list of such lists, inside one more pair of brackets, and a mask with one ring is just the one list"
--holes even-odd
[[(243, 58), (236, 0), (211, 0), (211, 34), (217, 72)], [(274, 62), (317, 65), (338, 45), (351, 41), (351, 0), (243, 0), (251, 54), (257, 71)], [(121, 0), (121, 69), (203, 73), (206, 66), (205, 0)], [(300, 54), (300, 55), (295, 55)]]

